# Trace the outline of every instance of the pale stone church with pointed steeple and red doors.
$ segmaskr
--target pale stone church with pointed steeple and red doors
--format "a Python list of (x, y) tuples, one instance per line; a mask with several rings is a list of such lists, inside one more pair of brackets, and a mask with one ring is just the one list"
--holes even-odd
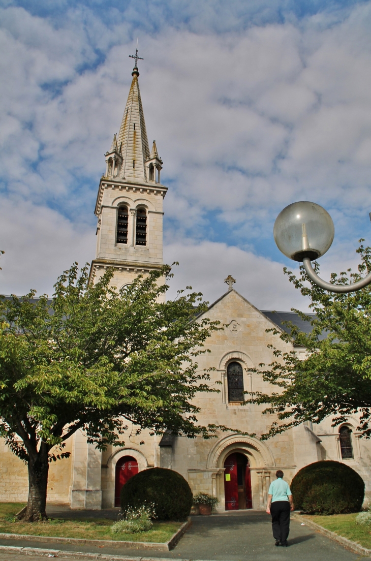
[[(135, 66), (120, 131), (105, 154), (106, 169), (95, 205), (97, 252), (91, 262), (90, 282), (96, 282), (112, 267), (112, 284), (120, 288), (138, 274), (146, 275), (163, 265), (163, 199), (167, 187), (161, 183), (163, 162), (156, 143), (149, 148), (138, 78)], [(267, 441), (259, 440), (275, 418), (262, 415), (264, 407), (244, 406), (241, 401), (246, 390), (269, 393), (273, 388), (248, 369), (272, 362), (271, 344), (282, 350), (285, 345), (287, 351), (287, 345), (267, 329), (285, 329), (282, 320), (296, 324), (301, 320), (293, 312), (258, 310), (233, 288), (231, 275), (226, 278), (223, 293), (223, 280), (216, 279), (221, 296), (205, 313), (210, 320), (228, 327), (212, 334), (207, 342), (211, 352), (198, 361), (201, 370), (213, 367), (210, 384), (221, 391), (198, 394), (198, 420), (203, 425), (235, 427), (257, 437), (233, 431), (210, 440), (167, 433), (151, 436), (149, 431), (138, 436), (133, 426), (127, 431), (125, 447), (108, 447), (100, 452), (86, 442), (83, 432), (77, 431), (67, 441), (70, 458), (52, 462), (48, 502), (69, 504), (74, 509), (118, 507), (126, 481), (138, 471), (159, 466), (181, 473), (193, 493), (204, 491), (216, 496), (219, 512), (264, 510), (269, 484), (278, 469), (290, 483), (298, 470), (320, 459), (344, 462), (357, 471), (365, 482), (369, 502), (371, 442), (360, 438), (356, 417), (337, 427), (331, 426), (331, 419), (320, 425), (306, 423)], [(303, 322), (300, 327), (308, 329)], [(296, 348), (296, 352), (305, 355), (303, 348)], [(4, 441), (0, 450), (0, 502), (25, 502), (26, 466)]]

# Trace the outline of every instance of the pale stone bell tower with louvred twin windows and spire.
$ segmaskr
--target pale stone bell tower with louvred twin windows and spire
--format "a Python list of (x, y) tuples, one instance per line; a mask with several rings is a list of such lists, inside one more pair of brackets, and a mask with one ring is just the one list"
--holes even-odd
[(106, 173), (99, 183), (97, 254), (90, 279), (114, 268), (112, 284), (120, 289), (140, 273), (160, 269), (162, 202), (167, 187), (160, 182), (162, 160), (155, 141), (149, 151), (138, 83), (136, 52), (132, 82), (120, 131), (106, 152)]

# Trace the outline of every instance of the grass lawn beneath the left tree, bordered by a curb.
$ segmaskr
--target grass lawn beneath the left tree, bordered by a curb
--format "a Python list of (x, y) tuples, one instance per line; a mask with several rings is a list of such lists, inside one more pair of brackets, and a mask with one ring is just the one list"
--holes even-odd
[(14, 515), (25, 505), (0, 503), (0, 532), (28, 534), (31, 536), (79, 537), (85, 540), (154, 541), (170, 540), (182, 522), (153, 522), (148, 532), (136, 534), (112, 534), (113, 520), (86, 518), (86, 520), (51, 519), (46, 522), (17, 522)]

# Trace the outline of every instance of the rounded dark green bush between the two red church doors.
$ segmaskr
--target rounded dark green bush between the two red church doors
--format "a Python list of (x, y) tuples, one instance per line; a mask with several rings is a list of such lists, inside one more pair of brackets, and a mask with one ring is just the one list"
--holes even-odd
[(140, 471), (121, 489), (122, 512), (150, 505), (158, 520), (184, 520), (191, 512), (193, 495), (180, 473), (153, 467)]

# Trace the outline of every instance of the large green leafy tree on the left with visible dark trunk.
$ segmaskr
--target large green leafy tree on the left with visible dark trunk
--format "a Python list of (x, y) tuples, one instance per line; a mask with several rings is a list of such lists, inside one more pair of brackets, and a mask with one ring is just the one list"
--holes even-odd
[(191, 403), (215, 391), (196, 357), (218, 322), (192, 321), (207, 310), (200, 293), (159, 302), (166, 272), (117, 292), (112, 270), (93, 286), (74, 264), (52, 301), (35, 291), (0, 298), (0, 435), (28, 465), (26, 521), (46, 517), (49, 463), (69, 455), (65, 441), (78, 429), (100, 449), (120, 444), (128, 421), (189, 437), (223, 430), (198, 425)]

